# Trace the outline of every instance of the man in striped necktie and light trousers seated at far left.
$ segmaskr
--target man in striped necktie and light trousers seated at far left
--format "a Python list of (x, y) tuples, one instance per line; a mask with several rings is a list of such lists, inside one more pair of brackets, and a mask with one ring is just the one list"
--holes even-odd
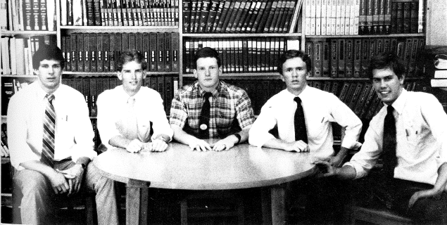
[(96, 192), (99, 224), (118, 224), (113, 181), (89, 163), (96, 152), (84, 96), (61, 84), (61, 49), (40, 46), (32, 66), (37, 81), (8, 105), (8, 144), (14, 188), (23, 193), (22, 223), (51, 223), (53, 207), (88, 188)]

